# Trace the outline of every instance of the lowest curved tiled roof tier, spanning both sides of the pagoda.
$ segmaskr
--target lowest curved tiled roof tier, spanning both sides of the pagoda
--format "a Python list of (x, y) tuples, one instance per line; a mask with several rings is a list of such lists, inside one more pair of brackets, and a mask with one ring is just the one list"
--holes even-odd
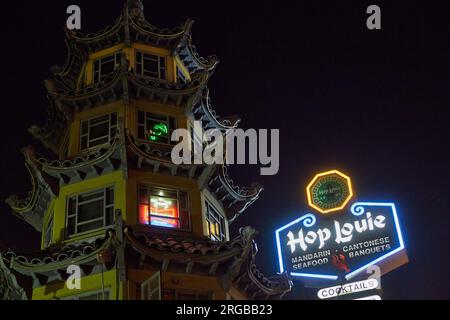
[[(185, 239), (140, 230), (135, 232), (128, 226), (125, 226), (124, 233), (128, 243), (125, 250), (131, 248), (137, 251), (141, 254), (141, 259), (143, 255), (144, 258), (148, 256), (159, 259), (161, 263), (164, 261), (163, 271), (167, 268), (166, 260), (167, 263), (173, 260), (187, 264), (186, 272), (191, 272), (193, 265), (197, 263), (200, 268), (202, 266), (210, 266), (210, 270), (220, 268), (216, 276), (222, 278), (223, 284), (226, 285), (229, 281), (245, 292), (250, 299), (281, 298), (291, 290), (291, 283), (286, 275), (268, 278), (256, 268), (254, 262), (257, 253), (254, 250), (256, 232), (252, 228), (242, 229), (240, 235), (229, 242), (213, 242), (206, 238)], [(120, 237), (110, 230), (105, 237), (92, 242), (53, 246), (31, 255), (7, 250), (0, 255), (0, 259), (5, 268), (9, 265), (9, 269), (6, 268), (7, 272), (15, 271), (35, 280), (37, 275), (45, 276), (47, 279), (59, 277), (58, 270), (73, 264), (91, 266), (89, 270), (94, 272), (94, 266), (99, 263), (99, 257), (104, 252), (114, 253), (120, 250), (118, 238)], [(159, 258), (158, 252), (163, 254)], [(127, 263), (129, 267), (133, 267), (133, 260)], [(0, 270), (0, 278), (6, 274), (5, 270)]]

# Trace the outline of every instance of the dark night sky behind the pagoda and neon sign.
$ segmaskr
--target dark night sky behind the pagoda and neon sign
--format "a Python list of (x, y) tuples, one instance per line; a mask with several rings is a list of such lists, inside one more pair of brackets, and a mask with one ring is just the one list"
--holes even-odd
[[(83, 31), (92, 32), (113, 23), (122, 3), (2, 3), (0, 241), (10, 246), (38, 248), (39, 235), (3, 199), (31, 188), (19, 151), (33, 143), (27, 128), (45, 118), (49, 67), (65, 61), (65, 9), (80, 5)], [(398, 205), (411, 262), (383, 278), (385, 298), (449, 299), (450, 3), (245, 3), (144, 0), (156, 26), (196, 21), (199, 52), (221, 59), (210, 83), (219, 114), (281, 130), (277, 176), (233, 170), (237, 182), (265, 186), (233, 231), (260, 231), (258, 264), (274, 273), (274, 230), (308, 209), (304, 186), (315, 172), (339, 168), (360, 200)], [(370, 4), (381, 6), (381, 31), (365, 27)]]

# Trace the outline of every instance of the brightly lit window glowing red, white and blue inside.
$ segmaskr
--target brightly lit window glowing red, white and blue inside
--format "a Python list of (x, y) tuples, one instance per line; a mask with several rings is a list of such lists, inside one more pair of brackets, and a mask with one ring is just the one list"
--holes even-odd
[(139, 222), (154, 227), (189, 230), (186, 192), (140, 187)]

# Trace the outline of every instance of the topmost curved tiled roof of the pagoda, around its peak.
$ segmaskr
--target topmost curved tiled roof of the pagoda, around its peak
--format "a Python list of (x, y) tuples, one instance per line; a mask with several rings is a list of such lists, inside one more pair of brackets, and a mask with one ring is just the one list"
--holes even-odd
[(59, 87), (69, 90), (82, 87), (81, 74), (90, 53), (118, 44), (130, 45), (131, 42), (169, 49), (180, 57), (191, 75), (198, 71), (212, 72), (219, 60), (216, 56), (200, 56), (192, 44), (192, 24), (193, 21), (188, 19), (173, 29), (157, 28), (145, 19), (140, 0), (128, 0), (115, 23), (103, 30), (83, 34), (65, 29), (67, 59), (63, 67), (52, 68), (54, 81)]

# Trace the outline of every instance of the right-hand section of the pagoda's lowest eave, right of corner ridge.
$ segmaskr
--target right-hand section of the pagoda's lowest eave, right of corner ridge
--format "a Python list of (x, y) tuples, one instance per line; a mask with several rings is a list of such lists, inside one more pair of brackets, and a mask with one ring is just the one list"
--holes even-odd
[[(239, 287), (250, 299), (281, 299), (289, 293), (292, 283), (286, 274), (268, 278), (255, 264), (257, 255), (254, 237), (257, 232), (242, 228), (240, 235), (229, 242), (212, 242), (205, 239), (176, 239), (145, 231), (125, 228), (129, 246), (140, 255), (140, 266), (145, 261), (161, 264), (163, 271), (178, 270), (186, 273), (208, 273), (222, 279), (225, 290), (231, 285)], [(189, 268), (188, 268), (189, 266)]]

